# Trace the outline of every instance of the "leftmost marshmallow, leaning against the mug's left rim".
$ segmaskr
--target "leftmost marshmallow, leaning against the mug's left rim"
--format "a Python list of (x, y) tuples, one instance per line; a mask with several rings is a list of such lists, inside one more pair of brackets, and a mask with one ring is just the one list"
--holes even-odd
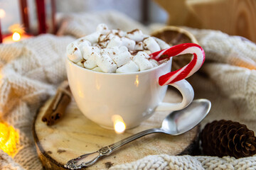
[(71, 42), (66, 49), (69, 60), (72, 62), (79, 62), (82, 60), (82, 52), (80, 51), (78, 45), (75, 42)]

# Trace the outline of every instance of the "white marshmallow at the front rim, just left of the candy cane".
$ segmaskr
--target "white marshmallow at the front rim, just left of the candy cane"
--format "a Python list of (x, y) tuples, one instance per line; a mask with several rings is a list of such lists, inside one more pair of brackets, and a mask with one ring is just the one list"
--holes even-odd
[(153, 68), (153, 65), (146, 56), (146, 52), (138, 52), (133, 58), (133, 61), (138, 65), (140, 71)]

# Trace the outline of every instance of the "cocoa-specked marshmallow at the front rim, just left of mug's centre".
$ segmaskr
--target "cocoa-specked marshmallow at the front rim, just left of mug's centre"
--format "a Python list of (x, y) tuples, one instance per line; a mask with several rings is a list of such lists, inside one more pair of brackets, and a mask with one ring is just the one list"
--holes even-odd
[(99, 58), (96, 58), (97, 66), (102, 69), (103, 72), (116, 72), (117, 64), (114, 64), (114, 61), (108, 55), (101, 55)]

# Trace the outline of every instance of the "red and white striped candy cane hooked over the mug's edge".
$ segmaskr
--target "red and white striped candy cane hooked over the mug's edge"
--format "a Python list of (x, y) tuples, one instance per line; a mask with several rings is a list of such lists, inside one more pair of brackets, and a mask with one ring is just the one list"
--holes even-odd
[(151, 59), (159, 62), (161, 60), (165, 60), (166, 58), (183, 54), (193, 54), (193, 59), (181, 69), (177, 69), (174, 72), (169, 72), (159, 77), (160, 86), (172, 84), (176, 81), (180, 81), (181, 79), (186, 79), (187, 77), (190, 77), (192, 74), (197, 72), (198, 69), (201, 68), (203, 62), (206, 60), (205, 52), (200, 45), (193, 43), (184, 43), (181, 45), (174, 45), (172, 47), (158, 52), (154, 52), (149, 55)]

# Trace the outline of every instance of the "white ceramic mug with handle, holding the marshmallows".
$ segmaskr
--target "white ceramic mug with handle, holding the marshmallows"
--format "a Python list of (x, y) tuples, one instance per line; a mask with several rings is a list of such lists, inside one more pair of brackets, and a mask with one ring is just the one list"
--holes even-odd
[(169, 62), (153, 69), (133, 73), (103, 73), (85, 69), (66, 59), (70, 89), (80, 111), (103, 128), (114, 128), (113, 116), (119, 115), (126, 128), (134, 128), (154, 111), (176, 111), (193, 100), (191, 84), (185, 79), (174, 86), (182, 94), (181, 103), (162, 103), (168, 86), (159, 77), (170, 72)]

